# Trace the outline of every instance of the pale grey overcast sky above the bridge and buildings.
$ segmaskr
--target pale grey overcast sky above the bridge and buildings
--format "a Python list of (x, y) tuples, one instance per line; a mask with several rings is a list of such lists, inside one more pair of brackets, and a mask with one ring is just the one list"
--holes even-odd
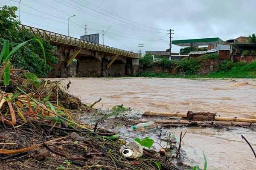
[[(19, 6), (19, 0), (0, 0), (0, 6)], [(256, 32), (256, 0), (21, 0), (21, 23), (79, 38), (104, 36), (104, 44), (128, 51), (164, 51), (173, 40), (219, 37), (222, 40)], [(18, 12), (17, 12), (18, 15)], [(179, 47), (172, 46), (173, 52)]]

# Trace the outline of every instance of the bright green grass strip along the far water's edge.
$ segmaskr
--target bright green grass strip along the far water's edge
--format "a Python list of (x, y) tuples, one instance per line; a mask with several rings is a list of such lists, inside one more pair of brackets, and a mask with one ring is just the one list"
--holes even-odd
[(256, 62), (248, 64), (235, 63), (229, 70), (221, 70), (207, 75), (185, 74), (171, 75), (168, 73), (140, 72), (136, 77), (160, 77), (160, 78), (256, 78)]

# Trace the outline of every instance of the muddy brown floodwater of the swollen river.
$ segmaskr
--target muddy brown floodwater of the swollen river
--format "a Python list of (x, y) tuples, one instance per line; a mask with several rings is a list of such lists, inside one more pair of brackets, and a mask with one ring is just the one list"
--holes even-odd
[[(180, 112), (209, 111), (221, 116), (256, 118), (256, 80), (254, 79), (177, 79), (177, 78), (69, 78), (70, 93), (83, 102), (93, 103), (102, 97), (95, 108), (108, 109), (124, 104), (144, 111)], [(256, 149), (255, 131), (234, 127), (172, 128), (180, 135), (189, 164), (203, 167), (203, 152), (209, 170), (255, 170), (256, 161), (241, 134)]]

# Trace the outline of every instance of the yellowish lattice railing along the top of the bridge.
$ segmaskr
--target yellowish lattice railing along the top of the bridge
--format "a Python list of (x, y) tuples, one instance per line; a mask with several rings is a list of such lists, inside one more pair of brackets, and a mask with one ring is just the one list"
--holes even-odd
[(81, 48), (90, 49), (93, 51), (101, 51), (101, 52), (105, 52), (108, 54), (119, 55), (119, 56), (124, 56), (124, 57), (140, 58), (140, 54), (137, 54), (137, 53), (121, 50), (118, 48), (113, 48), (113, 47), (110, 47), (107, 45), (101, 45), (101, 44), (96, 44), (93, 42), (80, 40), (78, 38), (69, 37), (66, 35), (58, 34), (58, 33), (51, 32), (51, 31), (46, 31), (43, 29), (31, 27), (31, 26), (26, 26), (26, 25), (20, 24), (19, 29), (20, 29), (20, 31), (28, 30), (29, 33), (32, 35), (35, 35), (41, 39), (50, 40), (50, 41), (56, 42), (56, 43), (77, 46), (77, 47), (81, 47)]

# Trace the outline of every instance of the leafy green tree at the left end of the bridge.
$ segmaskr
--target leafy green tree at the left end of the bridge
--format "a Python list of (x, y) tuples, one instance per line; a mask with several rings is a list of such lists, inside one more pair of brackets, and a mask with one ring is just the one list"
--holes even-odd
[[(0, 8), (0, 49), (3, 48), (4, 39), (10, 41), (10, 48), (12, 49), (21, 42), (38, 38), (29, 34), (26, 30), (18, 31), (20, 22), (17, 20), (16, 11), (17, 7), (15, 6), (3, 6)], [(47, 62), (52, 64), (58, 63), (58, 59), (53, 52), (55, 47), (50, 45), (50, 42), (47, 40), (41, 41), (44, 45)], [(13, 67), (28, 70), (39, 77), (46, 77), (47, 73), (51, 70), (49, 65), (44, 64), (41, 47), (37, 42), (32, 41), (13, 54), (11, 63)]]

